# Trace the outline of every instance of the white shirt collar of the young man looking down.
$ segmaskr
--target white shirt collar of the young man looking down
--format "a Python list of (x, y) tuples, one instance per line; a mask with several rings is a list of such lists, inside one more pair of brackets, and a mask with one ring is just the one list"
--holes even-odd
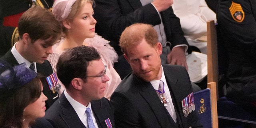
[[(26, 60), (23, 56), (20, 55), (20, 53), (19, 53), (19, 52), (17, 51), (17, 49), (15, 48), (16, 44), (17, 44), (17, 42), (14, 44), (14, 46), (12, 47), (12, 50), (11, 50), (11, 52), (12, 52), (14, 58), (17, 60), (17, 62), (18, 62), (19, 64), (25, 62), (26, 65), (27, 65), (27, 68), (29, 68), (30, 65), (31, 65), (31, 63), (30, 63), (28, 60)], [(35, 70), (36, 70), (36, 62), (33, 62), (33, 63), (34, 63), (34, 65), (35, 65)], [(36, 72), (37, 72), (37, 70), (36, 70)]]

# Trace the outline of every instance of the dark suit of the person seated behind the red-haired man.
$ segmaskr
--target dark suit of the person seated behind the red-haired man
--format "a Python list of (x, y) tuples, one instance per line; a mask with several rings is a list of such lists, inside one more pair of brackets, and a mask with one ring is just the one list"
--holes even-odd
[[(114, 67), (118, 74), (128, 70), (124, 75), (126, 76), (132, 70), (122, 56), (119, 46), (120, 35), (126, 27), (134, 23), (147, 23), (155, 26), (161, 23), (161, 19), (152, 4), (142, 6), (140, 0), (95, 0), (95, 2), (94, 18), (97, 20), (96, 32), (106, 40), (110, 40), (110, 45), (120, 56), (118, 63)], [(180, 26), (180, 19), (173, 13), (172, 7), (160, 12), (160, 14), (166, 33), (166, 40), (172, 44), (170, 49), (179, 44), (186, 44), (188, 46)], [(164, 58), (162, 59), (162, 64), (167, 64), (166, 55), (170, 49), (163, 48), (163, 53), (166, 51), (166, 54), (161, 56), (161, 59)], [(124, 76), (120, 74), (121, 78), (124, 78)]]

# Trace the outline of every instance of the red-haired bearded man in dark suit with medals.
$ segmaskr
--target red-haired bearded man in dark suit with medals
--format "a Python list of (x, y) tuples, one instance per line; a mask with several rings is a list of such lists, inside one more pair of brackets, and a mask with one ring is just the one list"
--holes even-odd
[(153, 26), (129, 26), (120, 36), (120, 46), (133, 72), (110, 97), (116, 126), (201, 128), (196, 112), (190, 108), (193, 102), (184, 101), (192, 94), (188, 72), (183, 66), (161, 65), (162, 45)]

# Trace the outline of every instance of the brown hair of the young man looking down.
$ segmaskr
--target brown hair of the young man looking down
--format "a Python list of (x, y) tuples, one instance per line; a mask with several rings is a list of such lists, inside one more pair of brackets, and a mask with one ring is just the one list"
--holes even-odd
[(32, 43), (50, 37), (51, 40), (56, 41), (62, 32), (60, 23), (53, 14), (40, 6), (29, 8), (22, 14), (18, 22), (18, 30), (21, 39), (23, 34), (28, 33)]

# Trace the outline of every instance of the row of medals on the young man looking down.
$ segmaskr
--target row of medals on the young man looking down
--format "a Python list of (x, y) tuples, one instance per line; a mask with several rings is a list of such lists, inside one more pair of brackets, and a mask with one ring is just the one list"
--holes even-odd
[(55, 93), (58, 90), (60, 90), (60, 84), (58, 82), (55, 72), (50, 76), (46, 77), (46, 80), (48, 82), (49, 88), (52, 91), (52, 93)]

